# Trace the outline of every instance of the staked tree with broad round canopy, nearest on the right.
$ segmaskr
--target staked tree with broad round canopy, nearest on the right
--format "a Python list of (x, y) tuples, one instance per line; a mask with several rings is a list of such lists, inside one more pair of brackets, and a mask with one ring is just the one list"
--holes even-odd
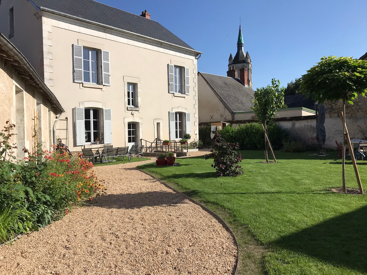
[[(301, 92), (305, 95), (312, 94), (312, 99), (323, 104), (325, 100), (343, 100), (343, 126), (344, 141), (343, 150), (345, 151), (345, 141), (349, 141), (349, 135), (345, 125), (345, 102), (353, 104), (358, 95), (365, 96), (367, 92), (367, 61), (353, 59), (352, 57), (328, 56), (321, 58), (321, 61), (307, 70), (302, 76)], [(348, 142), (351, 155), (353, 150)], [(352, 157), (352, 161), (354, 158)], [(346, 192), (344, 178), (345, 152), (343, 153), (343, 190)], [(353, 165), (356, 170), (357, 181), (360, 192), (363, 189), (359, 180), (358, 170), (355, 161)]]

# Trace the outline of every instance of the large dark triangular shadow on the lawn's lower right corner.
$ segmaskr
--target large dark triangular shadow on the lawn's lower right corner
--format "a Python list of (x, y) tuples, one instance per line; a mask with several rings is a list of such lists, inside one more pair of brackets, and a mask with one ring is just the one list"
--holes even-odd
[(271, 245), (367, 272), (367, 206), (285, 236)]

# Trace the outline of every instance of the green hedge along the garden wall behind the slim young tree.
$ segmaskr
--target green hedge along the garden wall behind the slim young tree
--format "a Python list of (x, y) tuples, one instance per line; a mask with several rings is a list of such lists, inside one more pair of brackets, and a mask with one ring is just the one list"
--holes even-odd
[[(239, 143), (240, 150), (264, 150), (264, 132), (257, 122), (238, 125), (237, 128), (226, 126), (221, 131), (221, 137), (229, 143)], [(276, 123), (268, 125), (269, 139), (274, 150), (283, 146), (283, 139), (288, 138), (288, 132)]]

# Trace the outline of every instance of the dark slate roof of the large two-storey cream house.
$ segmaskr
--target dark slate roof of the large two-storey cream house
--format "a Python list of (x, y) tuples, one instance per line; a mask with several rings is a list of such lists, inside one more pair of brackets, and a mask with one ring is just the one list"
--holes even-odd
[(158, 22), (94, 0), (30, 0), (38, 9), (63, 12), (82, 19), (127, 30), (128, 32), (155, 38), (194, 50)]

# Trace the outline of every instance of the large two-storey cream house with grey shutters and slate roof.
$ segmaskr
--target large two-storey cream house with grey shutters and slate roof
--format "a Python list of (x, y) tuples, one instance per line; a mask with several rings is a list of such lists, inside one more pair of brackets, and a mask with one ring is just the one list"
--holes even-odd
[(100, 147), (97, 138), (116, 147), (199, 138), (201, 53), (147, 11), (93, 0), (2, 0), (0, 32), (63, 106), (57, 136), (71, 151)]

